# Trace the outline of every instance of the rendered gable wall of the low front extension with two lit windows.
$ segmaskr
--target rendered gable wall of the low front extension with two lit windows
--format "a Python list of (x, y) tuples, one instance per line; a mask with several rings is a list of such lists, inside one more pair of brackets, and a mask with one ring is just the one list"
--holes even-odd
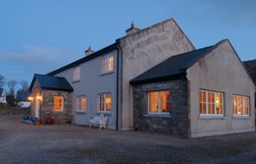
[[(240, 64), (239, 58), (224, 41), (211, 55), (187, 70), (190, 85), (191, 137), (219, 135), (255, 130), (254, 92), (251, 78)], [(199, 117), (199, 89), (224, 92), (224, 118)], [(250, 96), (250, 118), (232, 115), (232, 95)]]

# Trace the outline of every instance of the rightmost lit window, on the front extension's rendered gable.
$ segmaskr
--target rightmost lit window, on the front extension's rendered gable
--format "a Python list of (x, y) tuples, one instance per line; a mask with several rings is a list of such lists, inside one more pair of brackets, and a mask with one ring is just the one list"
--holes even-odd
[(249, 97), (233, 95), (233, 114), (249, 116)]

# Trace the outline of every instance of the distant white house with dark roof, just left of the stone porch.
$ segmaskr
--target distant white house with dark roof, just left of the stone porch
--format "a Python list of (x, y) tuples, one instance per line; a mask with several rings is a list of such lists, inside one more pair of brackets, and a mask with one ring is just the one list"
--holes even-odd
[(30, 92), (28, 90), (18, 90), (16, 92), (16, 102), (17, 105), (21, 108), (28, 108), (31, 105), (31, 102), (28, 100)]

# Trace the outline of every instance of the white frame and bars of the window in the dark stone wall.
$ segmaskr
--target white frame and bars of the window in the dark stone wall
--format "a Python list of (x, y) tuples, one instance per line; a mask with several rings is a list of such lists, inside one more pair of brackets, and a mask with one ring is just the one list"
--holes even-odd
[[(151, 112), (150, 111), (150, 93), (151, 92), (158, 92), (158, 97), (157, 97), (157, 112)], [(151, 91), (148, 91), (147, 92), (147, 113), (149, 114), (149, 115), (170, 115), (170, 111), (169, 112), (167, 112), (167, 111), (165, 111), (165, 112), (161, 112), (161, 92), (169, 92), (169, 103), (171, 103), (170, 101), (171, 101), (171, 98), (170, 98), (170, 91), (169, 90), (151, 90)], [(165, 101), (167, 101), (167, 99), (165, 100)], [(171, 106), (170, 106), (171, 107)], [(169, 108), (169, 110), (171, 110), (171, 108)]]

